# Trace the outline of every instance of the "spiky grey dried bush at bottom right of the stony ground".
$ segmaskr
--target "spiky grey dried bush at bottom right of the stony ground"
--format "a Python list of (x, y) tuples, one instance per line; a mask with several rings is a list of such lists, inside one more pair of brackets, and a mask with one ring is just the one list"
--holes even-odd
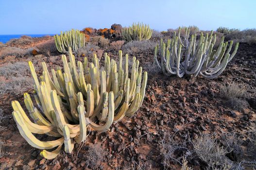
[(192, 145), (193, 152), (208, 165), (208, 168), (222, 170), (231, 166), (225, 157), (227, 150), (220, 147), (213, 136), (202, 135), (192, 140)]

